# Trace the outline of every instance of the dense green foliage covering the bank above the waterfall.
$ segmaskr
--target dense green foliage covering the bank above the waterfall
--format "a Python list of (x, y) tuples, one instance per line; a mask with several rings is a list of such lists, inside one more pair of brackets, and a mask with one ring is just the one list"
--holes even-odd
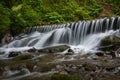
[(0, 32), (98, 18), (109, 4), (112, 14), (120, 15), (119, 0), (0, 0)]

